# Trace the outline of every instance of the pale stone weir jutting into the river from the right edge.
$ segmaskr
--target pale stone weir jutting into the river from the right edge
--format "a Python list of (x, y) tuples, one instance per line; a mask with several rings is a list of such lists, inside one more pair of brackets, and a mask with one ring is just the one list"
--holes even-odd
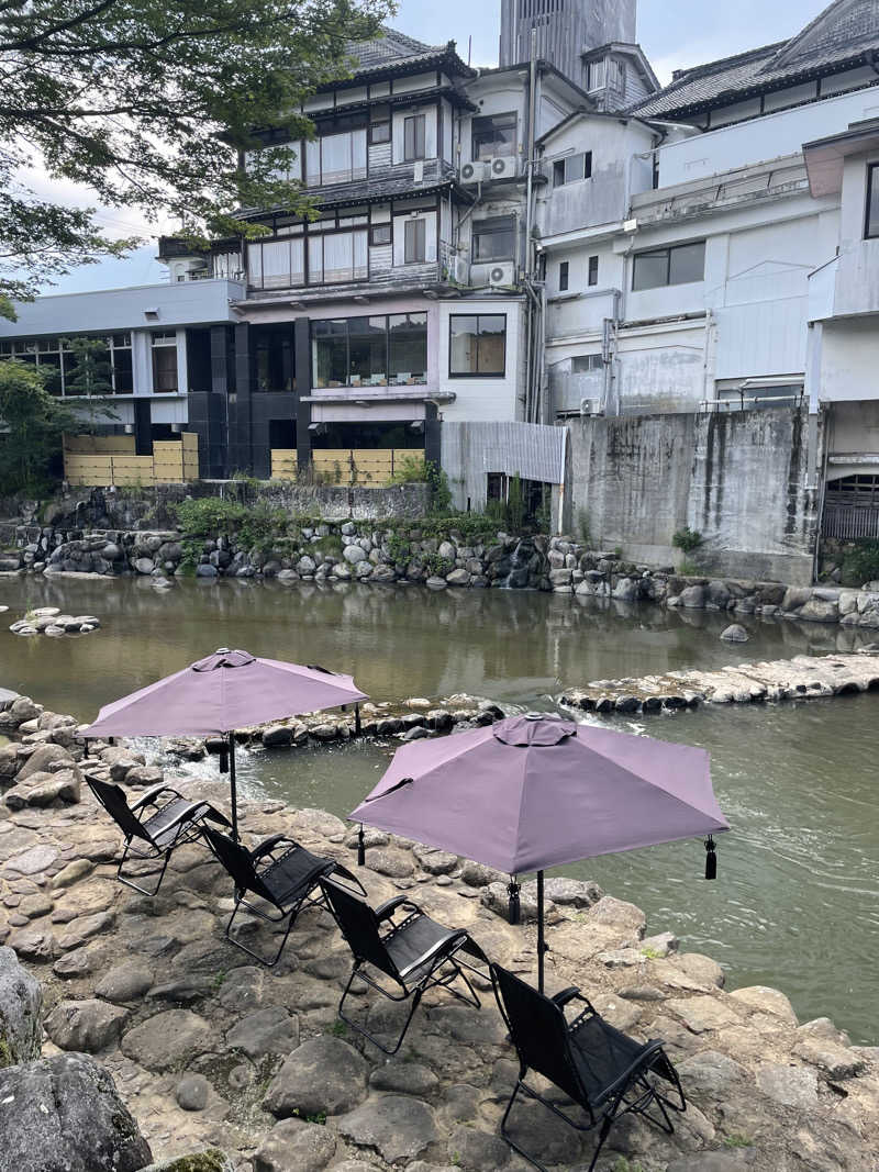
[(713, 672), (690, 669), (640, 679), (594, 680), (559, 699), (587, 713), (661, 713), (709, 704), (762, 700), (816, 700), (879, 688), (879, 652), (795, 655), (764, 663), (732, 663)]

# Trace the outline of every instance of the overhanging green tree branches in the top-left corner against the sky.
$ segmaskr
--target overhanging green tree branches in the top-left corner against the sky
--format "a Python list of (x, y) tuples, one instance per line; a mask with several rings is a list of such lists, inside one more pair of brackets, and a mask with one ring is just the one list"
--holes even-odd
[[(350, 66), (394, 0), (0, 0), (0, 314), (136, 240), (40, 198), (27, 165), (101, 203), (180, 222), (193, 243), (263, 232), (237, 209), (308, 202), (286, 175), (299, 110)], [(272, 127), (264, 150), (259, 130)], [(275, 142), (278, 144), (275, 144)], [(247, 157), (245, 170), (244, 161)]]

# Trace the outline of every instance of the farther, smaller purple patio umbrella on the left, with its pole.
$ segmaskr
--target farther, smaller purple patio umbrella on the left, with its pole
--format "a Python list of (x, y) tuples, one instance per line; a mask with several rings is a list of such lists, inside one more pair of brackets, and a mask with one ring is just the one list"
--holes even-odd
[[(232, 833), (238, 840), (234, 730), (250, 724), (354, 704), (366, 693), (349, 675), (322, 667), (257, 659), (220, 647), (182, 672), (104, 704), (83, 736), (224, 736), (229, 740)], [(220, 771), (225, 772), (223, 759)]]

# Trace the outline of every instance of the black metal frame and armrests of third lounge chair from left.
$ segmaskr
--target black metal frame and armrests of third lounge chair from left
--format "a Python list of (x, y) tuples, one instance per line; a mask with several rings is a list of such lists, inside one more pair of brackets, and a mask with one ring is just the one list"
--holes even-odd
[[(379, 981), (376, 981), (373, 976), (370, 976), (369, 973), (364, 972), (363, 966), (372, 962), (367, 958), (357, 955), (350, 940), (348, 940), (348, 936), (345, 933), (340, 919), (336, 915), (335, 909), (333, 907), (332, 883), (333, 883), (332, 879), (329, 880), (321, 879), (321, 887), (323, 888), (325, 894), (327, 894), (327, 888), (328, 887), (331, 888), (331, 893), (327, 895), (329, 911), (335, 918), (335, 921), (339, 925), (339, 929), (345, 936), (346, 941), (348, 942), (348, 947), (352, 949), (352, 953), (354, 955), (354, 966), (352, 968), (350, 976), (348, 977), (348, 981), (345, 986), (345, 990), (342, 992), (341, 1000), (339, 1001), (339, 1010), (338, 1010), (340, 1018), (347, 1026), (350, 1026), (353, 1030), (355, 1030), (362, 1037), (367, 1038), (367, 1041), (372, 1042), (373, 1045), (377, 1047), (377, 1049), (382, 1051), (382, 1054), (393, 1056), (397, 1054), (400, 1047), (403, 1044), (403, 1040), (409, 1030), (411, 1020), (415, 1016), (415, 1010), (418, 1008), (418, 1006), (421, 1004), (421, 999), (429, 989), (445, 989), (447, 993), (450, 993), (454, 997), (457, 997), (458, 1001), (463, 1001), (465, 1006), (472, 1006), (475, 1009), (482, 1008), (482, 1002), (479, 1001), (478, 994), (476, 993), (472, 984), (470, 983), (470, 981), (468, 980), (466, 975), (463, 972), (466, 968), (471, 973), (478, 973), (478, 969), (475, 968), (472, 965), (468, 965), (465, 961), (463, 961), (458, 955), (458, 953), (462, 949), (469, 952), (471, 955), (482, 960), (485, 963), (486, 968), (489, 962), (488, 958), (483, 954), (479, 946), (473, 940), (471, 940), (470, 934), (464, 928), (450, 928), (445, 933), (445, 935), (441, 936), (434, 945), (431, 945), (431, 947), (425, 953), (423, 953), (411, 963), (404, 966), (402, 969), (398, 969), (391, 956), (387, 953), (387, 943), (397, 932), (401, 932), (408, 924), (411, 924), (414, 920), (418, 919), (425, 913), (422, 912), (421, 908), (417, 906), (417, 904), (414, 904), (408, 898), (408, 895), (394, 895), (391, 899), (388, 899), (383, 904), (380, 904), (379, 907), (376, 908), (373, 908), (369, 904), (363, 901), (364, 907), (367, 908), (369, 914), (374, 917), (376, 931), (380, 928), (382, 924), (389, 922), (389, 929), (383, 935), (379, 933), (379, 942), (386, 949), (386, 959), (388, 963), (387, 970), (382, 972), (384, 972), (384, 975), (389, 980), (395, 981), (396, 984), (398, 984), (400, 989), (402, 990), (400, 993), (394, 993), (391, 989), (384, 988)], [(393, 921), (394, 913), (400, 907), (406, 908), (409, 914), (398, 924), (394, 924)], [(411, 983), (407, 983), (409, 976), (414, 972), (420, 970), (425, 963), (428, 963), (429, 967), (422, 973), (422, 975)], [(376, 966), (373, 965), (373, 967)], [(447, 969), (447, 972), (443, 973), (443, 975), (440, 975), (443, 969)], [(388, 1001), (402, 1003), (404, 1001), (411, 1000), (411, 1004), (409, 1007), (409, 1014), (406, 1018), (406, 1022), (403, 1023), (403, 1028), (400, 1033), (400, 1036), (397, 1037), (396, 1043), (393, 1047), (388, 1048), (383, 1045), (379, 1041), (379, 1038), (375, 1037), (374, 1034), (370, 1034), (367, 1029), (364, 1029), (364, 1027), (360, 1026), (357, 1022), (346, 1016), (343, 1011), (343, 1006), (346, 999), (348, 997), (348, 994), (350, 993), (350, 988), (352, 984), (354, 983), (355, 977), (360, 977), (372, 989), (375, 989), (376, 993), (381, 994)], [(459, 993), (457, 989), (454, 989), (451, 987), (452, 982), (458, 977), (466, 986), (468, 990), (466, 995)]]

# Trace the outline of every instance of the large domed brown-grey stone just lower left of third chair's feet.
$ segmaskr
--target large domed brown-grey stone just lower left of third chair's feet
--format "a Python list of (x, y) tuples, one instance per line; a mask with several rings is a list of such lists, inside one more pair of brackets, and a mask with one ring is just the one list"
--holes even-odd
[(369, 1064), (332, 1034), (309, 1038), (287, 1056), (268, 1085), (263, 1109), (289, 1116), (341, 1115), (366, 1098)]

